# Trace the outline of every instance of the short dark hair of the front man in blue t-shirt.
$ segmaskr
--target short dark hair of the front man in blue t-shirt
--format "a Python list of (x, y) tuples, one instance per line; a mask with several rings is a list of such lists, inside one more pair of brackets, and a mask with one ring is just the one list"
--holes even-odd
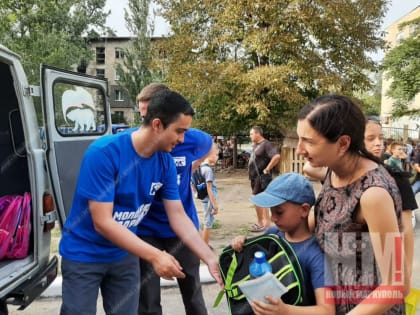
[(153, 119), (159, 118), (166, 128), (181, 114), (194, 116), (194, 109), (181, 94), (166, 89), (156, 91), (150, 99), (143, 125), (148, 126)]

